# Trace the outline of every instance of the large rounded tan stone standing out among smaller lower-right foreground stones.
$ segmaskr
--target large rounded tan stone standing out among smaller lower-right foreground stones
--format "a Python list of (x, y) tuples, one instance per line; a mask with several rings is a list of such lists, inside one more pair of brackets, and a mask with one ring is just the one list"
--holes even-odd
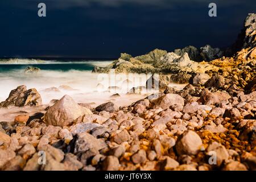
[(196, 155), (202, 144), (201, 138), (194, 131), (185, 131), (177, 139), (175, 148), (179, 155)]

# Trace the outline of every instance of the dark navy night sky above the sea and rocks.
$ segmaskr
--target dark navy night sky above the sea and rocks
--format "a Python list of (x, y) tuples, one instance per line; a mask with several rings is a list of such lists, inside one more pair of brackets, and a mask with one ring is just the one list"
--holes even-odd
[[(47, 16), (39, 18), (38, 4)], [(210, 2), (217, 17), (208, 16)], [(1, 0), (0, 57), (118, 57), (230, 46), (255, 0)]]

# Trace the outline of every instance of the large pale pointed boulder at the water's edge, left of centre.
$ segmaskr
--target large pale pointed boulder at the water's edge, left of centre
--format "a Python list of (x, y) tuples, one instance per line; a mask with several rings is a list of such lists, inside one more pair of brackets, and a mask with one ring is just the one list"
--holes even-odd
[(47, 125), (67, 126), (81, 115), (92, 114), (92, 111), (82, 107), (68, 95), (62, 97), (55, 105), (49, 107), (45, 114)]

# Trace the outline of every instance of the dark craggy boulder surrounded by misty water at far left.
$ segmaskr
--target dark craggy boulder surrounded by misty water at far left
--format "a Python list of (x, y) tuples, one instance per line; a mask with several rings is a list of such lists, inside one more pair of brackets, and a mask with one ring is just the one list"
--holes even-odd
[(42, 98), (36, 89), (29, 89), (25, 85), (11, 90), (9, 97), (0, 103), (0, 107), (9, 106), (38, 106), (42, 104)]

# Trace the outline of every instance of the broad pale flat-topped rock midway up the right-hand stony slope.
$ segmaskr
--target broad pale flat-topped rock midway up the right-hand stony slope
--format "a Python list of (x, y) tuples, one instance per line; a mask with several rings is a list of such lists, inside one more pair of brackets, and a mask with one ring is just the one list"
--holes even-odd
[(162, 109), (169, 109), (170, 106), (184, 106), (184, 99), (178, 94), (169, 93), (152, 101), (152, 103), (154, 104), (153, 108), (161, 107)]

